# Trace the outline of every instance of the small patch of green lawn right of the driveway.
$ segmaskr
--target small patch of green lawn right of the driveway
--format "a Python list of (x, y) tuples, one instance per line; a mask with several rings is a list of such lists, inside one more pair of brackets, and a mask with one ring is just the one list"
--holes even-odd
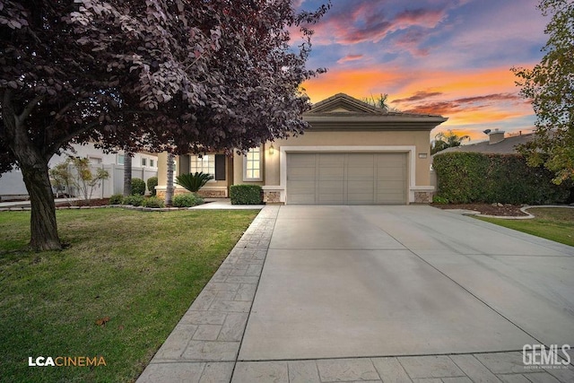
[(535, 215), (531, 220), (501, 220), (498, 218), (477, 217), (483, 221), (533, 234), (537, 237), (551, 239), (566, 245), (574, 246), (574, 209), (544, 208), (528, 209)]

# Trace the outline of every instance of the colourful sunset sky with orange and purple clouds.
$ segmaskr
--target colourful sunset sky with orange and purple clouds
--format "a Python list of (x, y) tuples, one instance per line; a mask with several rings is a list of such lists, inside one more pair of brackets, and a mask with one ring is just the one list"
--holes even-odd
[[(296, 0), (300, 9), (323, 2)], [(484, 140), (484, 129), (532, 131), (535, 115), (518, 96), (512, 66), (540, 62), (548, 22), (538, 0), (333, 0), (315, 26), (304, 83), (312, 102), (338, 92), (388, 93), (402, 111), (440, 114), (452, 129)]]

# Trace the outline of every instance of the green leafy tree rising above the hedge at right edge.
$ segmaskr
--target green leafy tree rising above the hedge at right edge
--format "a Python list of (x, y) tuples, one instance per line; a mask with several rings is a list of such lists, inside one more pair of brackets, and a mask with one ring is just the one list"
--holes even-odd
[(552, 182), (574, 179), (574, 3), (542, 0), (538, 8), (552, 19), (540, 64), (533, 69), (512, 68), (536, 114), (535, 138), (518, 147), (531, 166), (554, 173)]

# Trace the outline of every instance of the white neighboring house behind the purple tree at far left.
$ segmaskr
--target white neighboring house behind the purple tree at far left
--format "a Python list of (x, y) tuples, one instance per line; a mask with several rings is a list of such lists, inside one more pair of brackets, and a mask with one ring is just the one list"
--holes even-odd
[[(58, 163), (64, 162), (68, 155), (76, 157), (87, 157), (93, 168), (100, 167), (108, 170), (109, 179), (103, 181), (103, 185), (94, 189), (93, 197), (109, 197), (112, 194), (122, 193), (124, 190), (124, 152), (104, 153), (97, 149), (94, 144), (79, 145), (74, 144), (75, 152), (65, 152), (61, 155), (54, 155), (48, 166), (53, 168)], [(150, 177), (157, 177), (158, 156), (155, 153), (140, 152), (135, 153), (132, 160), (132, 177), (147, 180)], [(2, 174), (0, 177), (0, 199), (23, 199), (28, 197), (28, 191), (22, 179), (22, 171), (14, 169)]]

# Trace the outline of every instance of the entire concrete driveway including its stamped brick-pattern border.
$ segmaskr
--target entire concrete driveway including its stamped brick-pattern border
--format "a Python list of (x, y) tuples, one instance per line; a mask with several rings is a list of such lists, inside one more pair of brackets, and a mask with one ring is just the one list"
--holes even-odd
[(571, 382), (522, 350), (574, 345), (573, 272), (429, 206), (266, 206), (138, 382)]

